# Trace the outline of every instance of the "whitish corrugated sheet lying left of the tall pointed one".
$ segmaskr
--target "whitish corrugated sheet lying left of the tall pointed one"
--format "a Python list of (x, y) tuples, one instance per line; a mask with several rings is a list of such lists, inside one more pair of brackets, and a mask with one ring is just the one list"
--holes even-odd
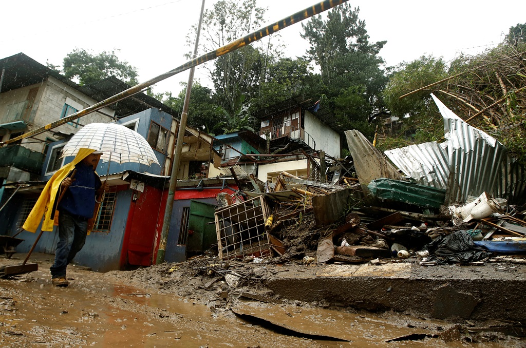
[(405, 175), (417, 183), (445, 190), (448, 185), (449, 160), (447, 142), (436, 141), (410, 145), (383, 153)]

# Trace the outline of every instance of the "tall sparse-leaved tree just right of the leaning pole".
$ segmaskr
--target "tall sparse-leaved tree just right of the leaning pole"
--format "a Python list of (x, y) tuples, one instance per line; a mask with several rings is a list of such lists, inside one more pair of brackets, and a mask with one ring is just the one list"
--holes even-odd
[[(256, 0), (218, 1), (204, 14), (204, 29), (199, 39), (201, 53), (224, 46), (260, 27), (265, 12), (264, 8), (256, 6)], [(190, 36), (187, 36), (188, 44), (193, 46), (194, 39)], [(220, 120), (226, 122), (222, 129), (248, 127), (245, 123), (250, 117), (246, 112), (254, 110), (251, 106), (265, 105), (264, 98), (272, 98), (284, 89), (267, 84), (269, 71), (279, 57), (277, 37), (271, 35), (264, 42), (254, 42), (204, 65), (213, 83), (213, 100), (221, 109)]]

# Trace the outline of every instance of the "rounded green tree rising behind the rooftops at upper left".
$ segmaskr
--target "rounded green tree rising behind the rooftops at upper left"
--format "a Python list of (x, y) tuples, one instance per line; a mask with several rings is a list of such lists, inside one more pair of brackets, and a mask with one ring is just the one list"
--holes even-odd
[(114, 51), (92, 54), (75, 48), (63, 61), (63, 74), (69, 79), (78, 78), (81, 86), (115, 76), (129, 85), (137, 85), (137, 68), (118, 59)]

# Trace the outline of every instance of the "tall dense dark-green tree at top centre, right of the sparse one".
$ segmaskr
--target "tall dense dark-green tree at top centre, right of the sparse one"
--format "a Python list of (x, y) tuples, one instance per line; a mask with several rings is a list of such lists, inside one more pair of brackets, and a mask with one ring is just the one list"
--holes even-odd
[(381, 91), (387, 82), (378, 56), (385, 41), (369, 43), (365, 22), (347, 3), (333, 8), (324, 20), (313, 17), (302, 24), (311, 45), (306, 58), (319, 66), (319, 93), (345, 128), (356, 128), (372, 136), (370, 121), (383, 112)]

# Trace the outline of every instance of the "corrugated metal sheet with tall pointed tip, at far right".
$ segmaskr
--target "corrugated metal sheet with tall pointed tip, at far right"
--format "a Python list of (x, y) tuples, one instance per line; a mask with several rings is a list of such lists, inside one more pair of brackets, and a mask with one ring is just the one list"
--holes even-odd
[(450, 178), (446, 203), (464, 201), (467, 196), (488, 192), (493, 197), (520, 203), (525, 197), (525, 171), (508, 156), (508, 149), (497, 139), (464, 122), (431, 95), (444, 118), (448, 139)]

